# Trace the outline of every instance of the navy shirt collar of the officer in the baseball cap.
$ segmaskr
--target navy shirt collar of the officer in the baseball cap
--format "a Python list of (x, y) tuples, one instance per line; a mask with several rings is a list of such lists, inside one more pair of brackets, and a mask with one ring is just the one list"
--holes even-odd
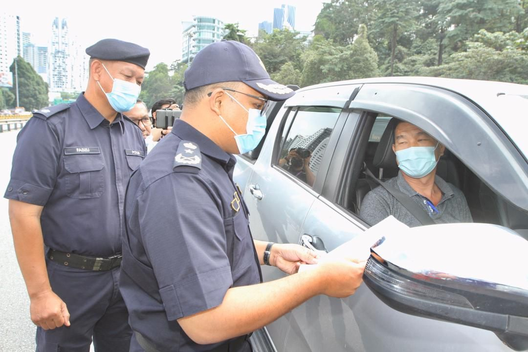
[(220, 161), (224, 165), (235, 164), (235, 158), (228, 153), (225, 153), (218, 145), (215, 144), (209, 137), (205, 136), (199, 130), (195, 129), (187, 122), (182, 120), (175, 120), (172, 126), (172, 133), (183, 140), (190, 140), (195, 142), (203, 154)]

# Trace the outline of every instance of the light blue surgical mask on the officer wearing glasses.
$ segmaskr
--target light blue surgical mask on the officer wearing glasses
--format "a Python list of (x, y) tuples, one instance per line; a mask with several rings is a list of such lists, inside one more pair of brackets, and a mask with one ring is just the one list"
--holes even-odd
[(266, 134), (266, 116), (261, 115), (260, 110), (258, 109), (248, 110), (244, 108), (244, 106), (237, 99), (233, 98), (231, 94), (228, 92), (225, 93), (228, 94), (231, 99), (236, 101), (242, 107), (242, 109), (248, 112), (248, 123), (246, 124), (245, 135), (238, 135), (237, 132), (235, 132), (231, 126), (229, 126), (229, 123), (225, 122), (224, 118), (219, 115), (220, 119), (233, 132), (234, 140), (237, 142), (239, 154), (248, 153), (259, 145), (262, 137), (264, 137)]

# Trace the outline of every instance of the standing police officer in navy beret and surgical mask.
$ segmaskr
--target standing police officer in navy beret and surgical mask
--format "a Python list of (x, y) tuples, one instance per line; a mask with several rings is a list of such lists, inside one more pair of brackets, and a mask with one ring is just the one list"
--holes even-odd
[(105, 39), (88, 47), (86, 91), (33, 113), (18, 134), (4, 197), (37, 326), (38, 351), (128, 351), (119, 289), (128, 179), (145, 157), (136, 103), (149, 51)]

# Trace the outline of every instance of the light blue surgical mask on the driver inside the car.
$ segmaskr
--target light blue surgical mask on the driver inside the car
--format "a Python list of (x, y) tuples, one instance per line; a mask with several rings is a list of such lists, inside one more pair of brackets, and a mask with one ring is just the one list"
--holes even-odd
[(438, 163), (435, 156), (435, 147), (411, 147), (395, 151), (398, 158), (398, 167), (413, 178), (428, 175)]

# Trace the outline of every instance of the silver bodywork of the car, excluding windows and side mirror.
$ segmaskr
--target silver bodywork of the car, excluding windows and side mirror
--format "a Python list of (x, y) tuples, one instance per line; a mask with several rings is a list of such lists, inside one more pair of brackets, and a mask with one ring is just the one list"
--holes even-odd
[[(363, 113), (369, 111), (402, 117), (427, 130), (490, 188), (516, 207), (528, 210), (528, 169), (523, 144), (526, 138), (519, 140), (526, 129), (518, 132), (515, 128), (519, 119), (527, 119), (514, 119), (511, 109), (501, 115), (507, 109), (500, 106), (504, 108), (504, 101), (510, 98), (499, 98), (513, 95), (511, 99), (518, 103), (515, 106), (523, 107), (524, 100), (518, 99), (525, 99), (521, 96), (527, 88), (470, 80), (377, 78), (300, 89), (285, 102), (272, 123), (254, 164), (238, 157), (237, 168), (241, 170), (235, 178), (240, 179), (237, 182), (248, 203), (254, 238), (299, 243), (301, 235), (315, 235), (331, 251), (367, 229), (364, 221), (334, 203), (341, 192), (338, 185), (350, 164), (347, 156), (356, 153), (354, 139), (364, 126)], [(498, 93), (504, 94), (497, 96)], [(277, 135), (285, 111), (319, 104), (344, 110), (336, 123), (336, 131), (341, 132), (333, 134), (332, 147), (329, 143), (324, 156), (327, 172), (324, 179), (317, 175), (312, 189), (273, 166), (272, 160), (276, 157)], [(461, 119), (465, 131), (459, 128)], [(260, 186), (264, 194), (261, 201), (252, 197), (249, 184)], [(264, 267), (262, 272), (265, 281), (284, 276), (276, 268)], [(346, 299), (314, 297), (272, 322), (267, 330), (279, 352), (512, 351), (491, 331), (396, 311), (365, 285)]]

